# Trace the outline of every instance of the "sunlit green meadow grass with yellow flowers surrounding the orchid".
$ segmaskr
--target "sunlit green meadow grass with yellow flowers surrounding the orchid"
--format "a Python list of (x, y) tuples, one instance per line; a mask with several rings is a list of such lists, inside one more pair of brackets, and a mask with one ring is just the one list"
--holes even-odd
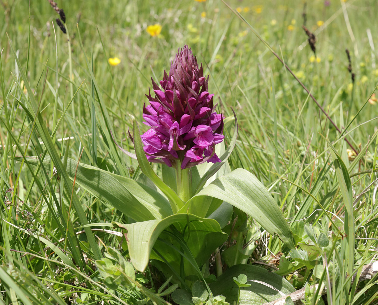
[[(239, 136), (228, 159), (231, 169), (247, 169), (268, 188), (296, 241), (305, 243), (303, 223), (315, 226), (333, 220), (344, 231), (340, 223), (346, 199), (330, 143), (349, 175), (366, 171), (351, 178), (356, 239), (352, 248), (341, 246), (330, 259), (333, 265), (339, 263), (341, 274), (376, 259), (378, 102), (374, 97), (369, 102), (378, 83), (375, 2), (331, 1), (325, 6), (315, 0), (307, 2), (305, 9), (303, 2), (294, 0), (225, 2), (240, 14), (217, 0), (59, 2), (67, 18), (64, 34), (55, 23), (59, 15), (48, 1), (31, 1), (30, 7), (25, 1), (2, 1), (1, 304), (64, 304), (75, 293), (88, 293), (88, 304), (134, 303), (145, 297), (163, 302), (147, 289), (156, 292), (166, 280), (153, 268), (139, 274), (138, 289), (132, 293), (122, 287), (110, 291), (99, 283), (93, 261), (102, 257), (106, 247), (118, 247), (116, 235), (100, 231), (88, 240), (85, 234), (77, 238), (74, 234), (90, 230), (82, 228), (88, 223), (127, 222), (127, 217), (73, 188), (68, 176), (57, 179), (51, 165), (35, 167), (16, 156), (53, 158), (55, 154), (136, 179), (138, 164), (116, 148), (110, 132), (119, 145), (133, 149), (129, 114), (142, 122), (150, 77), (162, 79), (163, 69), (169, 70), (177, 49), (185, 44), (203, 63), (204, 74), (210, 75), (209, 91), (215, 93), (218, 110), (226, 117), (226, 146), (234, 125), (231, 107), (237, 114)], [(307, 28), (316, 34), (316, 56), (302, 29), (304, 11)], [(157, 36), (146, 31), (154, 24), (162, 27)], [(350, 52), (354, 83), (345, 49)], [(113, 57), (120, 59), (118, 65), (108, 62)], [(370, 169), (374, 173), (367, 172)], [(244, 237), (245, 248), (251, 250), (245, 262), (276, 260), (282, 242), (252, 218), (248, 226), (258, 234)], [(45, 246), (51, 250), (43, 251)], [(38, 251), (34, 258), (23, 255)], [(57, 267), (55, 259), (62, 259), (64, 253), (74, 264), (60, 260)], [(342, 262), (344, 254), (354, 262), (347, 266)], [(66, 270), (75, 277), (67, 273), (66, 279)], [(77, 286), (85, 274), (92, 282)], [(286, 277), (298, 289), (314, 280), (310, 268)], [(365, 296), (355, 297), (356, 287), (350, 294), (345, 292), (350, 283), (329, 290), (328, 303), (376, 302), (377, 285), (372, 283), (363, 284)]]

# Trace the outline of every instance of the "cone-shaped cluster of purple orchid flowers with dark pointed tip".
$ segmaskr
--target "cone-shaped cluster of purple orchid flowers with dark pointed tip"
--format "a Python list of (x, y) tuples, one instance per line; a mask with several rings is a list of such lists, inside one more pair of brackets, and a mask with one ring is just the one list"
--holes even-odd
[(187, 45), (179, 49), (169, 75), (164, 71), (161, 87), (152, 79), (155, 97), (146, 94), (150, 105), (143, 107), (144, 124), (151, 128), (141, 136), (150, 162), (172, 166), (180, 160), (182, 169), (221, 162), (215, 144), (224, 138), (223, 115), (215, 112), (208, 82)]

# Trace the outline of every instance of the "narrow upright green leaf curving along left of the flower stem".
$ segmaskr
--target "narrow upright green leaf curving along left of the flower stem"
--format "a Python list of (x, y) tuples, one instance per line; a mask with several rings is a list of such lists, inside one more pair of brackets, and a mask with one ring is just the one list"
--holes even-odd
[(166, 185), (163, 180), (161, 180), (153, 171), (150, 163), (147, 160), (146, 153), (143, 150), (142, 139), (139, 132), (139, 125), (135, 120), (135, 117), (131, 116), (133, 119), (133, 137), (134, 137), (134, 148), (136, 158), (138, 159), (139, 166), (147, 177), (149, 177), (153, 183), (167, 196), (172, 207), (172, 211), (177, 213), (184, 202), (178, 197), (173, 189)]

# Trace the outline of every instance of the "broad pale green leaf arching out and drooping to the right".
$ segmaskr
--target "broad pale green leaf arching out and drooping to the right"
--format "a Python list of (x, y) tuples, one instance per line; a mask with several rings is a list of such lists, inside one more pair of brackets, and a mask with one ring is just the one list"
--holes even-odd
[[(265, 186), (247, 170), (237, 168), (231, 173), (214, 180), (189, 200), (189, 213), (198, 208), (191, 205), (192, 200), (197, 196), (215, 197), (232, 204), (253, 217), (270, 234), (276, 233), (286, 246), (291, 249), (295, 247), (291, 231), (279, 206)], [(206, 201), (209, 200), (202, 200), (202, 202)]]

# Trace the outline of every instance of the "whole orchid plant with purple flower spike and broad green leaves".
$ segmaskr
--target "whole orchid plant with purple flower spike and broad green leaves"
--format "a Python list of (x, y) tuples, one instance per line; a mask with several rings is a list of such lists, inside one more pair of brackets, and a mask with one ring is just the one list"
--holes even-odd
[[(227, 118), (217, 112), (214, 94), (208, 92), (209, 77), (204, 76), (188, 46), (178, 51), (159, 84), (152, 80), (154, 94), (146, 95), (149, 105), (143, 107), (144, 124), (149, 129), (141, 135), (132, 117), (129, 134), (135, 154), (118, 146), (138, 161), (143, 173), (139, 178), (143, 179), (78, 165), (69, 158), (65, 160), (68, 175), (76, 185), (127, 216), (126, 223), (109, 225), (124, 231), (122, 248), (136, 270), (143, 272), (151, 263), (179, 284), (181, 290), (173, 294), (176, 303), (192, 295), (198, 280), (204, 283), (207, 295), (223, 294), (226, 301), (236, 301), (239, 288), (233, 277), (239, 274), (257, 276), (269, 287), (292, 292), (285, 279), (253, 265), (236, 264), (223, 273), (222, 258), (217, 264), (218, 278), (210, 274), (209, 258), (229, 238), (223, 228), (232, 215), (253, 217), (291, 249), (295, 248), (292, 234), (265, 186), (246, 169), (230, 170), (227, 159), (237, 139), (235, 112)], [(225, 149), (224, 122), (232, 121), (235, 127)], [(37, 164), (39, 159), (28, 157), (28, 162)], [(43, 160), (50, 162), (48, 156)], [(159, 174), (150, 163), (161, 163)], [(228, 299), (226, 288), (231, 289)], [(193, 294), (198, 299), (197, 295), (198, 291)], [(265, 297), (276, 298), (271, 291)]]

